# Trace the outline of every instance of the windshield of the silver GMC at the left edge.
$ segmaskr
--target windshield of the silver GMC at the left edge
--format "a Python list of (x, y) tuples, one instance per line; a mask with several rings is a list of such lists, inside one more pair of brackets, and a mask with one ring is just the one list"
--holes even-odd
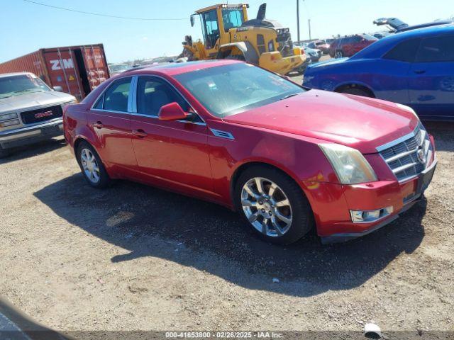
[(33, 74), (0, 77), (0, 98), (17, 96), (30, 91), (51, 91), (44, 81)]

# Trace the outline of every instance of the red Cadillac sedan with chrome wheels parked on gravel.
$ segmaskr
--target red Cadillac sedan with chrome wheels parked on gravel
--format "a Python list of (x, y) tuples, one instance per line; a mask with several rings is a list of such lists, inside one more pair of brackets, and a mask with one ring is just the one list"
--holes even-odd
[(238, 210), (262, 238), (368, 234), (423, 195), (433, 137), (406, 106), (308, 90), (233, 60), (133, 69), (68, 106), (87, 182), (129, 179)]

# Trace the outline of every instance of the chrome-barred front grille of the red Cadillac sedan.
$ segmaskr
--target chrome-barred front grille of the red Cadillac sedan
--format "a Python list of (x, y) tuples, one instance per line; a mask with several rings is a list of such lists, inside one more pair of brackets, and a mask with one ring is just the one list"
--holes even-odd
[(377, 148), (398, 181), (406, 181), (429, 165), (433, 148), (426, 129), (419, 123), (414, 132)]

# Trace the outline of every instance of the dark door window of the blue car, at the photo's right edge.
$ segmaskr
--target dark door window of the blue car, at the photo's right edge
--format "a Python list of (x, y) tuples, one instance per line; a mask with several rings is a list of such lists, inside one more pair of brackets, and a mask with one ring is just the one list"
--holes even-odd
[(454, 35), (423, 39), (416, 62), (454, 62)]

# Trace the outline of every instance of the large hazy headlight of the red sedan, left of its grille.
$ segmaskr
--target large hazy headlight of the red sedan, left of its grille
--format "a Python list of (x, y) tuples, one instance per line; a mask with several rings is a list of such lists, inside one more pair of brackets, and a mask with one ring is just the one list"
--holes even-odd
[(339, 144), (319, 144), (342, 184), (377, 181), (377, 175), (361, 152)]

